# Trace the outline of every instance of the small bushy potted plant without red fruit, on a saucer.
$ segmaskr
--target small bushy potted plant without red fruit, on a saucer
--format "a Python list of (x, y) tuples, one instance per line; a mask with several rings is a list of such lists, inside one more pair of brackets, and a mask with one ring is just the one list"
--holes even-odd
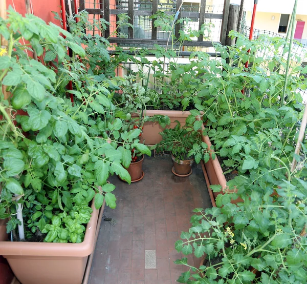
[(202, 141), (199, 131), (195, 131), (191, 125), (181, 127), (179, 121), (171, 129), (164, 129), (160, 133), (162, 141), (152, 147), (157, 152), (170, 151), (173, 160), (172, 172), (178, 176), (189, 176), (192, 173), (194, 161), (200, 163), (201, 159), (209, 160), (208, 146)]

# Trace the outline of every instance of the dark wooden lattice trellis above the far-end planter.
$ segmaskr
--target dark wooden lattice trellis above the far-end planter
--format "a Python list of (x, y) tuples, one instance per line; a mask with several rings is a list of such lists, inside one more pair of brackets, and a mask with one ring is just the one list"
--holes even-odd
[[(151, 16), (158, 11), (158, 6), (161, 4), (169, 5), (172, 7), (172, 11), (165, 11), (166, 14), (174, 15), (176, 11), (180, 10), (180, 17), (192, 18), (193, 22), (199, 22), (198, 29), (205, 23), (206, 19), (220, 19), (222, 21), (220, 29), (220, 40), (218, 42), (225, 44), (226, 33), (227, 33), (227, 22), (228, 22), (228, 13), (230, 0), (225, 0), (223, 13), (213, 13), (206, 11), (206, 0), (201, 0), (199, 6), (199, 12), (193, 11), (186, 12), (182, 9), (183, 0), (171, 1), (166, 0), (166, 3), (160, 2), (160, 0), (96, 0), (97, 7), (89, 8), (86, 7), (86, 4), (89, 4), (89, 0), (79, 0), (79, 11), (85, 10), (89, 15), (99, 15), (101, 18), (104, 18), (105, 21), (110, 22), (110, 20), (121, 13), (126, 13), (129, 16), (129, 24), (134, 26), (135, 16)], [(114, 1), (114, 3), (112, 3)], [(137, 9), (138, 4), (143, 4), (146, 7), (146, 3), (149, 3), (149, 6), (146, 9)], [(119, 5), (121, 4), (121, 5)], [(172, 6), (171, 6), (172, 5)], [(87, 5), (89, 6), (89, 5)], [(115, 8), (115, 9), (114, 9)], [(174, 28), (174, 35), (179, 37), (179, 32), (182, 27), (180, 24), (176, 24)], [(104, 32), (105, 37), (109, 37), (112, 32), (108, 26)], [(112, 44), (122, 44), (122, 45), (136, 45), (136, 40), (138, 45), (153, 45), (158, 44), (160, 46), (165, 46), (167, 44), (167, 38), (158, 37), (158, 29), (155, 27), (155, 19), (151, 21), (151, 38), (139, 38), (134, 36), (134, 30), (132, 27), (128, 27), (127, 38), (112, 36), (109, 37), (109, 42)], [(200, 35), (197, 40), (185, 41), (184, 46), (199, 46), (199, 47), (212, 47), (212, 41), (204, 40), (203, 35)]]

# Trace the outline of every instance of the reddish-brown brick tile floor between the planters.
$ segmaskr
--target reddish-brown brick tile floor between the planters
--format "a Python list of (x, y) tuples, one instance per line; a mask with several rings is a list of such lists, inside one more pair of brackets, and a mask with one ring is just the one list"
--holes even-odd
[[(146, 158), (144, 178), (128, 186), (116, 176), (116, 209), (105, 208), (89, 284), (176, 284), (187, 268), (173, 263), (182, 258), (174, 249), (196, 207), (211, 207), (199, 165), (180, 178), (171, 173), (168, 158)], [(145, 269), (145, 250), (156, 250), (156, 269)], [(200, 259), (188, 257), (189, 265)]]

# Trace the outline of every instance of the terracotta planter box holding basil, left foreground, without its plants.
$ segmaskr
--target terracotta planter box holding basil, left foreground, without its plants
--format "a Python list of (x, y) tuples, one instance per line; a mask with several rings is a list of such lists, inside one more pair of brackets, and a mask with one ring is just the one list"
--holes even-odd
[[(105, 202), (100, 211), (96, 210), (93, 202), (92, 217), (80, 244), (0, 241), (0, 255), (8, 260), (22, 284), (81, 284), (87, 259), (95, 250), (101, 222), (98, 216), (104, 206)], [(90, 272), (89, 266), (86, 274)]]

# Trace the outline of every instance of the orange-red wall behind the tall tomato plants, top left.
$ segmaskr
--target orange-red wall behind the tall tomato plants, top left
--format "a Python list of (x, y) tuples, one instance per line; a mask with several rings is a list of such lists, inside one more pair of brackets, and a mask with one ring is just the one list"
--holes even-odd
[[(9, 5), (11, 5), (18, 13), (25, 15), (25, 0), (7, 0), (7, 7), (9, 7)], [(60, 25), (60, 22), (54, 19), (52, 11), (60, 14), (60, 6), (60, 0), (32, 0), (34, 15), (42, 18), (43, 21), (47, 23), (53, 22), (56, 25)]]

